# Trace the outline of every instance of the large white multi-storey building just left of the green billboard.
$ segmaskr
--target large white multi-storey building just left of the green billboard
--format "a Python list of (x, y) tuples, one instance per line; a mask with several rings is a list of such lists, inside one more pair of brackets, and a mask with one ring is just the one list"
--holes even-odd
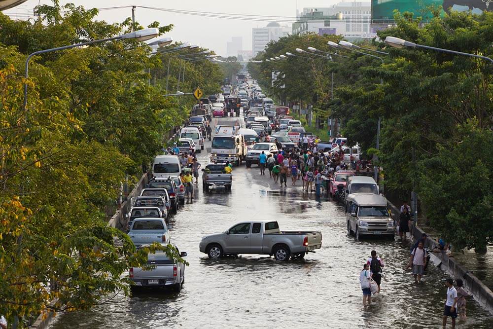
[(370, 2), (339, 2), (328, 8), (303, 8), (293, 23), (293, 34), (335, 34), (347, 38), (372, 38)]

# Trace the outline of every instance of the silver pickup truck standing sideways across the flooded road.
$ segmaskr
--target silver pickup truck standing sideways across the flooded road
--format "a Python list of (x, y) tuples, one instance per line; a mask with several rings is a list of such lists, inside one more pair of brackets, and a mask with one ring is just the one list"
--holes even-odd
[(265, 254), (277, 260), (303, 258), (322, 246), (319, 231), (280, 231), (277, 221), (245, 221), (223, 233), (204, 236), (199, 250), (210, 258), (223, 255)]

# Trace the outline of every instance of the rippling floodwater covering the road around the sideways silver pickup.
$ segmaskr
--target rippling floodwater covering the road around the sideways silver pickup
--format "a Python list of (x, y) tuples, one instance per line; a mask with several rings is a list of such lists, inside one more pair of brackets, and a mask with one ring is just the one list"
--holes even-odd
[[(207, 152), (198, 158), (205, 165)], [(355, 240), (338, 203), (317, 201), (299, 186), (280, 188), (256, 165), (235, 167), (233, 175), (231, 192), (205, 193), (197, 184), (194, 202), (173, 219), (172, 242), (190, 263), (179, 294), (119, 295), (91, 311), (61, 315), (52, 328), (441, 328), (448, 276), (430, 265), (414, 284), (403, 270), (408, 244)], [(199, 252), (203, 235), (253, 219), (278, 220), (281, 230), (320, 230), (322, 248), (288, 262), (259, 255), (211, 261)], [(358, 278), (371, 250), (386, 267), (380, 296), (363, 309)], [(468, 322), (457, 328), (493, 328), (490, 313), (472, 300), (467, 308)]]

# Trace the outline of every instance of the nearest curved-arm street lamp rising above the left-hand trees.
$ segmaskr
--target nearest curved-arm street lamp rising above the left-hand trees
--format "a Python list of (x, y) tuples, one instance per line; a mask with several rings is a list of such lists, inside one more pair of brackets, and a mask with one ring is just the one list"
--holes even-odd
[[(56, 47), (56, 48), (50, 48), (50, 49), (44, 49), (44, 50), (39, 50), (35, 51), (34, 53), (29, 54), (28, 58), (26, 59), (26, 68), (25, 68), (25, 73), (24, 77), (26, 80), (29, 77), (29, 61), (31, 60), (31, 57), (39, 54), (44, 54), (52, 51), (58, 51), (58, 50), (65, 50), (65, 49), (70, 49), (70, 48), (75, 48), (75, 47), (80, 47), (80, 46), (87, 46), (90, 44), (94, 43), (100, 43), (100, 42), (105, 42), (105, 41), (112, 41), (112, 40), (125, 40), (125, 39), (136, 39), (137, 41), (145, 41), (152, 39), (153, 37), (156, 37), (159, 35), (159, 30), (157, 28), (150, 28), (150, 29), (143, 29), (139, 31), (134, 31), (130, 32), (121, 36), (116, 36), (116, 37), (108, 37), (106, 39), (99, 39), (99, 40), (92, 40), (92, 41), (87, 41), (87, 42), (81, 42), (81, 43), (76, 43), (76, 44), (70, 44), (68, 46), (63, 46), (63, 47)], [(27, 82), (24, 84), (24, 106), (23, 109), (24, 111), (27, 110), (27, 104), (28, 104), (28, 84)]]

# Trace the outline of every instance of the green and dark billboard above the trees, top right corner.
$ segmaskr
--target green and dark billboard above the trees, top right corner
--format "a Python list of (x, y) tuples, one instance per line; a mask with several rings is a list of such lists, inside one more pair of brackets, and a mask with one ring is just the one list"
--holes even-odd
[(484, 10), (493, 11), (489, 4), (490, 0), (371, 0), (371, 16), (372, 23), (385, 23), (393, 20), (393, 11), (397, 9), (401, 13), (413, 12), (414, 17), (423, 17), (426, 21), (432, 18), (431, 6), (442, 7), (442, 15), (450, 8), (480, 14)]

